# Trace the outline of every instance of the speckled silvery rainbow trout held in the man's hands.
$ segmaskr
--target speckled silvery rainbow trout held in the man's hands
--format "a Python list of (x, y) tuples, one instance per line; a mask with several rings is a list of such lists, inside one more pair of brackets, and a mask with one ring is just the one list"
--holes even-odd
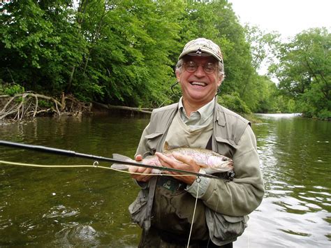
[[(229, 159), (226, 156), (213, 152), (209, 149), (203, 148), (190, 148), (190, 147), (178, 147), (175, 149), (167, 149), (163, 152), (165, 156), (169, 156), (172, 159), (175, 159), (172, 156), (172, 152), (177, 152), (182, 155), (191, 156), (194, 161), (205, 170), (206, 174), (213, 173), (225, 173), (233, 170), (233, 160)], [(147, 156), (142, 161), (135, 161), (130, 159), (127, 156), (121, 154), (112, 154), (113, 159), (119, 159), (124, 161), (131, 161), (136, 163), (145, 163), (147, 165), (153, 166), (162, 166), (157, 156)], [(125, 164), (113, 163), (112, 168), (117, 170), (127, 170), (129, 166)], [(152, 169), (152, 173), (159, 174), (161, 170)]]

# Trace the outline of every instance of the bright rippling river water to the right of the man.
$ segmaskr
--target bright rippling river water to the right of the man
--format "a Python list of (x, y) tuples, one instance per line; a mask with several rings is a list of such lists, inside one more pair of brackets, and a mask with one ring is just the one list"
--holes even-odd
[(235, 244), (330, 247), (330, 123), (294, 115), (260, 117), (263, 122), (253, 130), (266, 194)]

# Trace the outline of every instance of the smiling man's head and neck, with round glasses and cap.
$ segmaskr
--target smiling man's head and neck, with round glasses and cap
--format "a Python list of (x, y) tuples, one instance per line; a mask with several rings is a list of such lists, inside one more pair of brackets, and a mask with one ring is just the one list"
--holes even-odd
[[(184, 69), (183, 69), (184, 68)], [(186, 44), (176, 70), (187, 115), (214, 99), (223, 80), (223, 59), (219, 47), (204, 38)]]

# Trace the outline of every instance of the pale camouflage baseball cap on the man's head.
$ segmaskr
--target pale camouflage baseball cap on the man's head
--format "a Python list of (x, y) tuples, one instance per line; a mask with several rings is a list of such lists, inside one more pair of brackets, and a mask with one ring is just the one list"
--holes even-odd
[(223, 56), (219, 45), (216, 45), (214, 42), (207, 40), (206, 38), (197, 38), (196, 40), (186, 43), (178, 59), (182, 59), (186, 54), (191, 56), (212, 55), (223, 64)]

